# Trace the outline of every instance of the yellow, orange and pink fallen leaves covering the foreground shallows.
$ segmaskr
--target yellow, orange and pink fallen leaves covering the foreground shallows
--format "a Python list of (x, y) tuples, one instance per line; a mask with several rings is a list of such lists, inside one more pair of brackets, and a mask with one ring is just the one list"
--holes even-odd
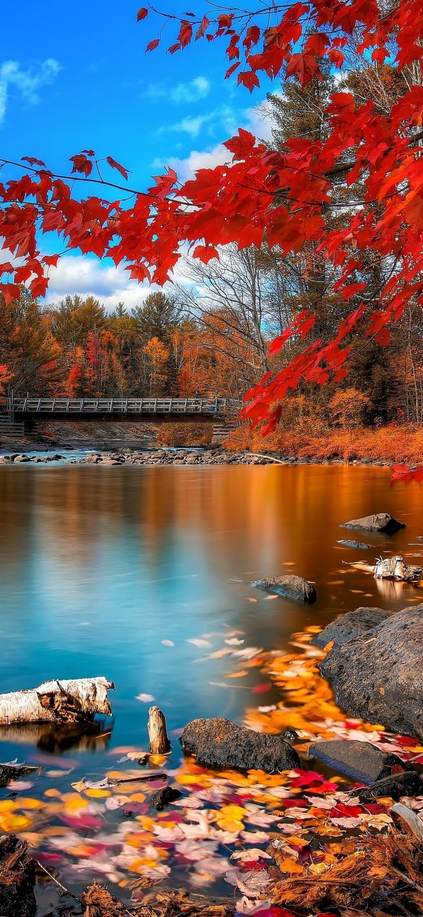
[[(234, 677), (251, 677), (258, 668), (266, 679), (257, 680), (260, 691), (272, 688), (280, 698), (249, 706), (244, 724), (274, 735), (295, 729), (302, 755), (319, 738), (364, 739), (406, 761), (423, 762), (418, 740), (345, 718), (320, 676), (324, 652), (309, 646), (319, 629), (293, 635), (287, 652), (225, 647), (233, 671), (222, 685), (234, 688)], [(239, 687), (254, 697), (257, 685)], [(99, 879), (121, 899), (146, 905), (157, 890), (168, 894), (176, 886), (189, 894), (204, 889), (209, 900), (234, 893), (238, 912), (262, 917), (289, 917), (286, 908), (321, 913), (323, 906), (341, 913), (359, 906), (379, 917), (407, 911), (410, 901), (411, 912), (423, 911), (421, 845), (418, 852), (404, 823), (397, 826), (392, 799), (361, 802), (353, 792), (358, 784), (328, 779), (307, 765), (282, 774), (241, 773), (202, 768), (189, 758), (171, 769), (168, 757), (133, 746), (112, 754), (114, 763), (102, 779), (71, 783), (68, 770), (49, 770), (35, 783), (16, 781), (18, 795), (7, 795), (9, 785), (0, 798), (1, 832), (27, 841), (41, 865), (54, 868), (67, 887)], [(138, 761), (146, 770), (140, 772)], [(182, 795), (157, 812), (149, 801), (161, 787)], [(423, 797), (405, 801), (423, 836)], [(379, 905), (372, 910), (371, 892), (379, 888), (386, 889), (388, 904), (396, 896), (397, 911), (387, 904), (387, 911)]]

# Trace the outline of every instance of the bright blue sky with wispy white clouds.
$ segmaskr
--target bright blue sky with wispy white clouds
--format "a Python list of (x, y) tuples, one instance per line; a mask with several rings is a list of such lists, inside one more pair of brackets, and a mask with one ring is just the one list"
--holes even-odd
[[(185, 6), (182, 0), (180, 10)], [(3, 0), (0, 52), (0, 155), (36, 156), (53, 171), (67, 171), (81, 149), (113, 156), (132, 171), (143, 190), (162, 164), (185, 178), (193, 168), (215, 164), (220, 144), (240, 125), (260, 136), (253, 96), (223, 82), (224, 45), (195, 43), (173, 57), (175, 40), (145, 54), (157, 37), (157, 20), (136, 24), (137, 0)], [(175, 12), (175, 3), (161, 7)], [(195, 9), (206, 5), (199, 0)], [(110, 264), (68, 258), (51, 277), (48, 299), (95, 293), (113, 307), (142, 298), (123, 271)], [(138, 295), (139, 292), (139, 295)]]

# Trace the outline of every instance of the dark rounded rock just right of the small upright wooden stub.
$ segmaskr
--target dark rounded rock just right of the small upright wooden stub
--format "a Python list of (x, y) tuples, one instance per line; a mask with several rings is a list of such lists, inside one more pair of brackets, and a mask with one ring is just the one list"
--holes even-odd
[(193, 755), (209, 768), (275, 771), (298, 768), (298, 753), (277, 735), (255, 733), (230, 720), (192, 720), (180, 737), (184, 754)]

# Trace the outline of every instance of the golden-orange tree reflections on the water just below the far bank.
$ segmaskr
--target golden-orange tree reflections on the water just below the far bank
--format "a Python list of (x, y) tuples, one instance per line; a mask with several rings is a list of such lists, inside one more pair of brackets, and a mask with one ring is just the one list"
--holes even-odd
[[(4, 562), (24, 561), (36, 539), (52, 561), (92, 567), (105, 534), (117, 541), (131, 528), (154, 559), (176, 532), (200, 539), (222, 576), (231, 575), (234, 564), (265, 575), (290, 563), (292, 571), (319, 580), (321, 589), (340, 579), (331, 570), (336, 573), (342, 558), (354, 559), (335, 546), (337, 538), (353, 536), (338, 529), (341, 522), (387, 510), (418, 524), (418, 485), (389, 491), (388, 479), (387, 469), (344, 466), (2, 468), (1, 553)], [(374, 551), (359, 553), (373, 563), (381, 547), (406, 550), (410, 538), (401, 532), (368, 540)], [(401, 601), (401, 586), (369, 585), (374, 594)]]

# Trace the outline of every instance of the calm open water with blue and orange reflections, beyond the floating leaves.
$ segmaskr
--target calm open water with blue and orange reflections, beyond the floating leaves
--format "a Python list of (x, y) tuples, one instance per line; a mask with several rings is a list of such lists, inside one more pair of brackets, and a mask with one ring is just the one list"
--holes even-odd
[[(177, 767), (177, 736), (191, 719), (243, 723), (247, 708), (279, 700), (275, 688), (257, 696), (257, 668), (227, 677), (242, 657), (212, 657), (225, 639), (237, 636), (242, 651), (281, 649), (293, 632), (360, 604), (416, 602), (423, 590), (376, 583), (342, 564), (374, 563), (391, 550), (420, 562), (409, 543), (423, 535), (423, 492), (416, 483), (390, 490), (389, 477), (388, 469), (343, 466), (2, 467), (0, 691), (99, 675), (116, 691), (105, 740), (64, 748), (45, 729), (3, 729), (1, 760), (62, 768), (67, 788), (71, 779), (101, 779), (114, 749), (147, 748), (154, 698)], [(336, 544), (353, 536), (340, 523), (381, 511), (407, 528), (357, 535), (371, 551)], [(285, 572), (315, 582), (317, 602), (302, 606), (250, 585)]]

